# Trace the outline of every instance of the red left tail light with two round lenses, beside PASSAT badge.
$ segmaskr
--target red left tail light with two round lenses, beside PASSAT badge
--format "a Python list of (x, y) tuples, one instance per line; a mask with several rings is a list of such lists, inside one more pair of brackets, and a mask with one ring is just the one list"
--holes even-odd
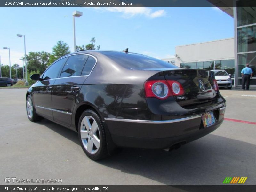
[(172, 80), (149, 80), (144, 83), (146, 97), (167, 99), (169, 96), (184, 94), (184, 89), (178, 81)]

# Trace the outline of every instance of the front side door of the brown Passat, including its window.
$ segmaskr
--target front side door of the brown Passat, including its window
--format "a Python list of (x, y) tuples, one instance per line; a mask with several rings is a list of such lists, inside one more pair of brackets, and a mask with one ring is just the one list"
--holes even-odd
[(45, 118), (53, 120), (52, 115), (52, 88), (60, 74), (60, 70), (67, 58), (54, 62), (41, 76), (41, 81), (37, 81), (32, 87), (32, 96), (36, 113)]

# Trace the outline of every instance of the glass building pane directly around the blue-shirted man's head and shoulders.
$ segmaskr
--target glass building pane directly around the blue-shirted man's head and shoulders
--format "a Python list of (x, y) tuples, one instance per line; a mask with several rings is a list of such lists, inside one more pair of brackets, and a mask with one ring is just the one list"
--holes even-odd
[(238, 77), (241, 77), (241, 70), (245, 67), (245, 64), (249, 63), (249, 67), (252, 69), (252, 76), (256, 76), (256, 52), (238, 54)]

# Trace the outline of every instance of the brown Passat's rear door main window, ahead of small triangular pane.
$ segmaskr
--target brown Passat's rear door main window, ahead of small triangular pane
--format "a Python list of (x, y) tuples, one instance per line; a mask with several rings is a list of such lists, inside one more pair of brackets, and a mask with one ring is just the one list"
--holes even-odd
[(67, 62), (62, 69), (60, 77), (80, 76), (87, 58), (88, 55), (69, 56)]

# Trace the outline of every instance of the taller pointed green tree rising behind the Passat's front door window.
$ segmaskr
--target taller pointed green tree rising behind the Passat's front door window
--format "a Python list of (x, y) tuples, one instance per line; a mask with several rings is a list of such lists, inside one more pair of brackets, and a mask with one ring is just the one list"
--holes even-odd
[(52, 48), (52, 54), (50, 55), (49, 63), (52, 64), (55, 60), (70, 53), (68, 44), (63, 41), (58, 41), (57, 45)]

